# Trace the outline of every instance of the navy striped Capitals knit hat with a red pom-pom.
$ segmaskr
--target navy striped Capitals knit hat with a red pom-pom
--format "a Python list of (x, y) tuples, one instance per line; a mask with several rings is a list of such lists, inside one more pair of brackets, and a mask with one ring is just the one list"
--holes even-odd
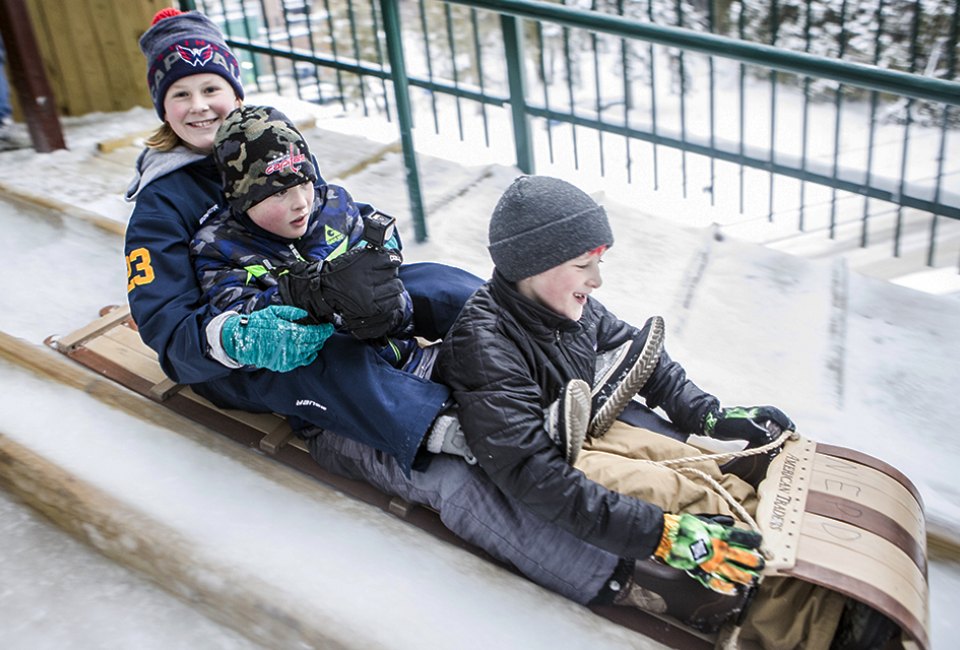
[(243, 99), (237, 57), (227, 47), (223, 32), (199, 12), (161, 9), (140, 37), (140, 51), (147, 57), (147, 87), (161, 120), (167, 89), (190, 75), (220, 75)]

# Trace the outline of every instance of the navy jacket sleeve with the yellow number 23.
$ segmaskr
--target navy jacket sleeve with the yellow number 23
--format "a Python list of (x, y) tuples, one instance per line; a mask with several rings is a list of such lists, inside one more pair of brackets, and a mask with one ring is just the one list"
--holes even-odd
[[(141, 192), (127, 226), (124, 255), (127, 300), (141, 338), (157, 353), (171, 379), (194, 384), (223, 377), (230, 370), (206, 355), (204, 326), (211, 314), (201, 301), (190, 263), (190, 241), (206, 203), (212, 201), (197, 190), (175, 191), (189, 190), (188, 183), (197, 187), (190, 179), (165, 177)], [(196, 215), (181, 210), (195, 210)]]

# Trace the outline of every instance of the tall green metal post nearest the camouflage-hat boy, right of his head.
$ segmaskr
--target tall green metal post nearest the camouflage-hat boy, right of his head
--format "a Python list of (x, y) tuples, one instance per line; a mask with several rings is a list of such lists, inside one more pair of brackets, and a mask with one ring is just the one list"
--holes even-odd
[(424, 218), (423, 199), (420, 192), (420, 173), (417, 171), (417, 152), (413, 147), (413, 117), (410, 112), (410, 87), (407, 68), (403, 59), (403, 41), (400, 32), (400, 13), (397, 0), (380, 0), (383, 14), (383, 31), (387, 37), (387, 57), (393, 78), (394, 101), (397, 102), (397, 122), (400, 126), (400, 143), (403, 146), (403, 162), (407, 171), (407, 192), (410, 195), (410, 213), (413, 230), (418, 242), (427, 240), (427, 224)]

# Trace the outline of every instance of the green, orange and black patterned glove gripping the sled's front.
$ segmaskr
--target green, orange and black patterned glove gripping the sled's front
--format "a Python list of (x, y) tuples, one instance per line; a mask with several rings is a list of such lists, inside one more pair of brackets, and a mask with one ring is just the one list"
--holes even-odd
[(704, 587), (734, 595), (753, 586), (763, 569), (762, 537), (690, 514), (663, 515), (663, 536), (654, 556), (686, 571)]

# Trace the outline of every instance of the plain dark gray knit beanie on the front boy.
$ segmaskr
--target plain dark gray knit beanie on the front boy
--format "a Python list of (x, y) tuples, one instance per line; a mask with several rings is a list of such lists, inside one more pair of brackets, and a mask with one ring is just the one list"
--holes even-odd
[(600, 246), (613, 246), (606, 211), (586, 192), (559, 178), (517, 178), (490, 218), (490, 257), (510, 282)]

